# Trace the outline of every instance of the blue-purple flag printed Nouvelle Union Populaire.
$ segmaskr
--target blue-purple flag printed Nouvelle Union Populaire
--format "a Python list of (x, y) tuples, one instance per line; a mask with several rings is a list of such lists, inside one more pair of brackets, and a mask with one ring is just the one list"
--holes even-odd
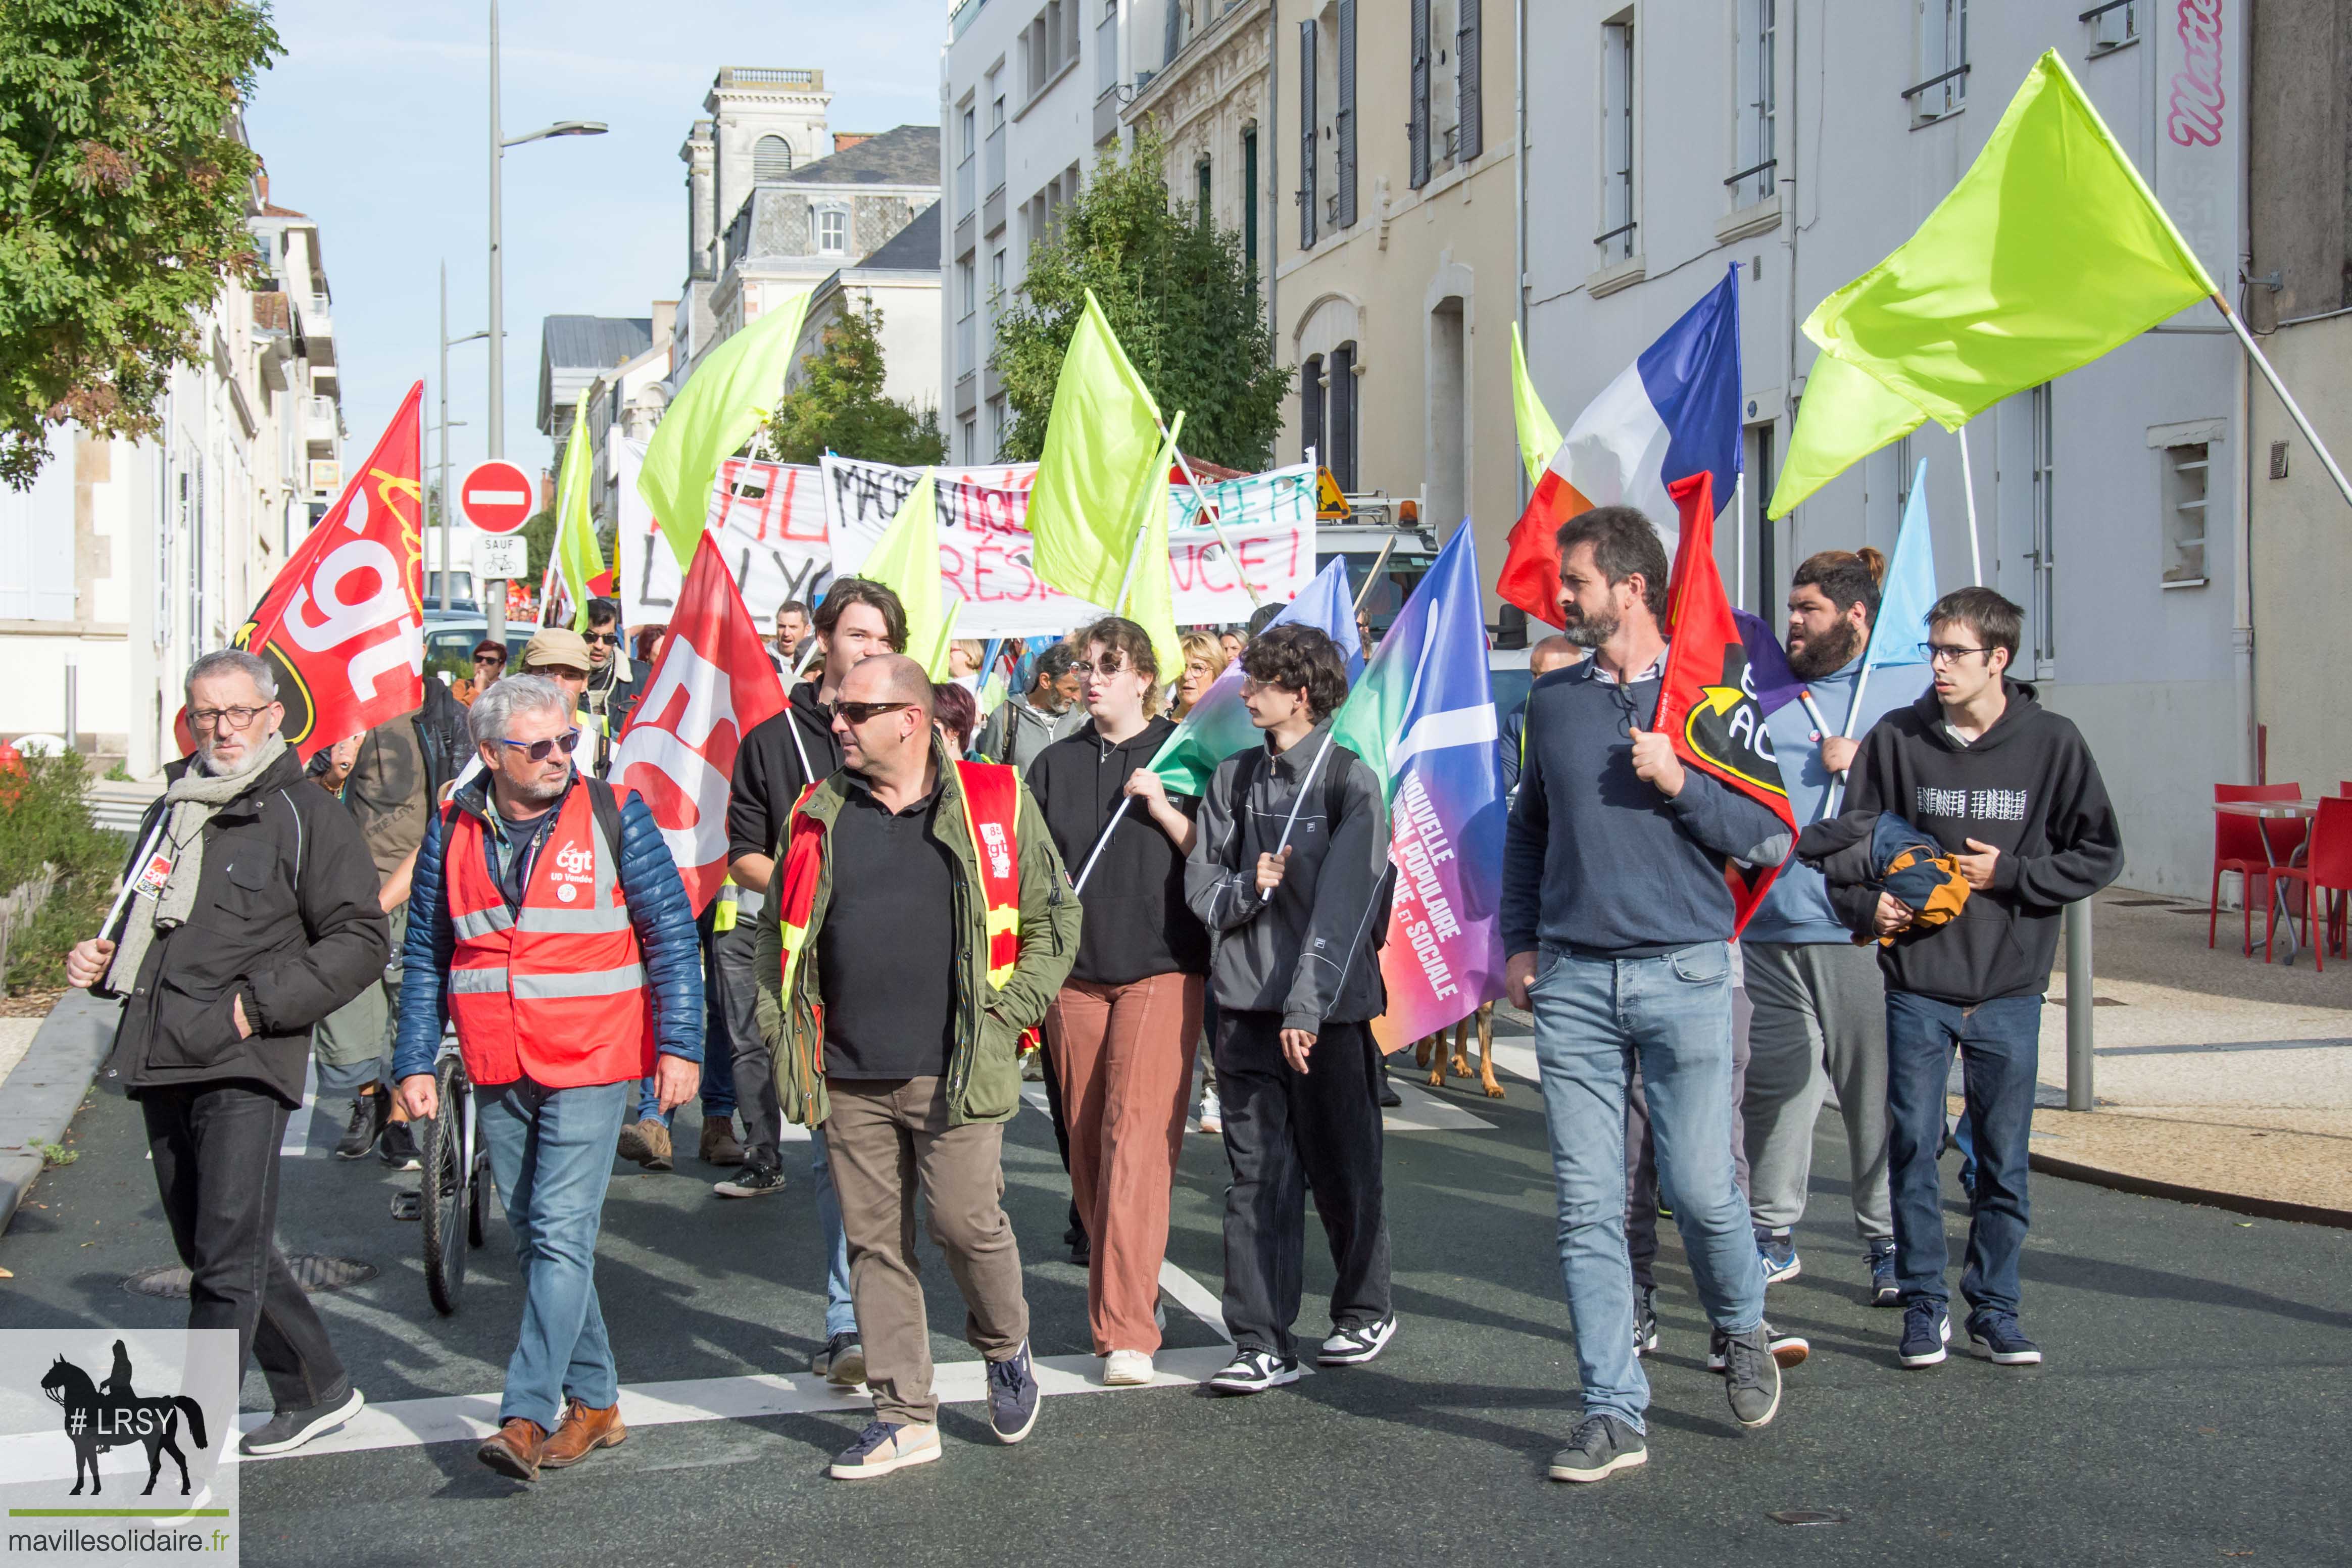
[(1477, 538), (1454, 531), (1364, 668), (1331, 736), (1388, 788), (1381, 1051), (1468, 1018), (1503, 994), (1503, 764), (1486, 679)]

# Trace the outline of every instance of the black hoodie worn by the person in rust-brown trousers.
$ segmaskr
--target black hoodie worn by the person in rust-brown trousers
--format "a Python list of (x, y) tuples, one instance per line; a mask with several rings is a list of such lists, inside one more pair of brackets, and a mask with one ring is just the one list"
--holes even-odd
[[(1176, 724), (1157, 717), (1112, 745), (1094, 733), (1089, 719), (1075, 736), (1037, 752), (1028, 771), (1030, 795), (1070, 877), (1087, 865), (1127, 780), (1150, 766), (1171, 733)], [(1169, 802), (1185, 816), (1200, 809), (1190, 795), (1171, 795)], [(1209, 973), (1209, 933), (1183, 900), (1183, 863), (1143, 802), (1129, 806), (1077, 896), (1087, 914), (1077, 929), (1073, 980), (1129, 985), (1148, 976)]]

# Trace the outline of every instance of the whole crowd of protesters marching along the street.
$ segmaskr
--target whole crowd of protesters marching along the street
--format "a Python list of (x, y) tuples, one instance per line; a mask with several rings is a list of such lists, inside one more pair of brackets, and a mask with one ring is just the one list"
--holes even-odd
[[(1780, 1413), (1809, 1345), (1766, 1321), (1766, 1291), (1804, 1267), (1792, 1229), (1832, 1093), (1863, 1291), (1903, 1312), (1900, 1366), (1943, 1361), (1955, 1051), (1964, 1331), (1994, 1363), (2039, 1361), (2018, 1255), (2042, 990), (2058, 910), (2114, 877), (2122, 842), (2082, 736), (2009, 675), (2018, 609), (1971, 588), (1922, 628), (1886, 628), (1922, 639), (1931, 686), (1865, 693), (1882, 562), (1802, 562), (1785, 642), (1811, 703), (1769, 722), (1792, 835), (1656, 729), (1668, 562), (1651, 520), (1585, 512), (1559, 559), (1564, 632), (1531, 649), (1529, 696), (1501, 722), (1498, 867), (1583, 1389), (1550, 1474), (1649, 1458), (1661, 1194), (1733, 1418)], [(191, 1324), (235, 1328), (268, 1378), (273, 1415), (242, 1448), (301, 1446), (365, 1403), (273, 1239), (306, 1058), (315, 1093), (348, 1100), (334, 1154), (414, 1166), (445, 1032), (480, 1091), (524, 1281), (480, 1448), (520, 1481), (626, 1439), (595, 1241), (614, 1157), (673, 1168), (689, 1100), (720, 1199), (786, 1192), (786, 1126), (807, 1128), (826, 1251), (811, 1373), (873, 1394), (833, 1476), (943, 1455), (917, 1206), (964, 1298), (995, 1436), (1037, 1422), (1002, 1206), (1025, 1072), (1047, 1086), (1105, 1385), (1157, 1375), (1188, 1124), (1230, 1171), (1232, 1356), (1209, 1387), (1301, 1375), (1310, 1192), (1334, 1265), (1310, 1354), (1381, 1356), (1399, 1331), (1392, 1095), (1371, 1034), (1388, 802), (1331, 738), (1341, 646), (1268, 618), (1183, 637), (1181, 668), (1103, 618), (1004, 658), (957, 644), (931, 682), (889, 588), (840, 578), (814, 609), (783, 604), (786, 705), (741, 738), (729, 882), (701, 917), (644, 802), (604, 783), (661, 644), (640, 628), (633, 654), (619, 604), (593, 602), (586, 632), (539, 630), (515, 672), (482, 642), (470, 679), (426, 682), (421, 710), (320, 750), (308, 778), (270, 665), (200, 658), (193, 755), (139, 827), (122, 919), (68, 976), (125, 999), (106, 1072), (146, 1114)], [(1150, 764), (1232, 663), (1261, 743), (1176, 795)], [(1889, 839), (1947, 886), (1898, 896)], [(1780, 865), (1745, 929), (1729, 865)]]

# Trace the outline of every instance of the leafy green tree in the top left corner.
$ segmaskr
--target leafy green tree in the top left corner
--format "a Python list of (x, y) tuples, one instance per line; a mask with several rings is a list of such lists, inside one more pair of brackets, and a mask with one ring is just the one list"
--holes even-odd
[(0, 5), (0, 477), (49, 425), (153, 435), (195, 315), (254, 266), (238, 106), (282, 54), (240, 0)]

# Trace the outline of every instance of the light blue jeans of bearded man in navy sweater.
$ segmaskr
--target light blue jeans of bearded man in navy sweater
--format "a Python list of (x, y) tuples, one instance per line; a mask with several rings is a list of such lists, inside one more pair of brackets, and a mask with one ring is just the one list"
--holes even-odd
[(1642, 1432), (1649, 1380), (1632, 1354), (1625, 1255), (1625, 1081), (1635, 1065), (1658, 1185), (1675, 1194), (1708, 1319), (1726, 1333), (1764, 1321), (1764, 1262), (1731, 1175), (1731, 952), (1698, 943), (1656, 959), (1583, 959), (1545, 947), (1529, 999), (1585, 1413)]

